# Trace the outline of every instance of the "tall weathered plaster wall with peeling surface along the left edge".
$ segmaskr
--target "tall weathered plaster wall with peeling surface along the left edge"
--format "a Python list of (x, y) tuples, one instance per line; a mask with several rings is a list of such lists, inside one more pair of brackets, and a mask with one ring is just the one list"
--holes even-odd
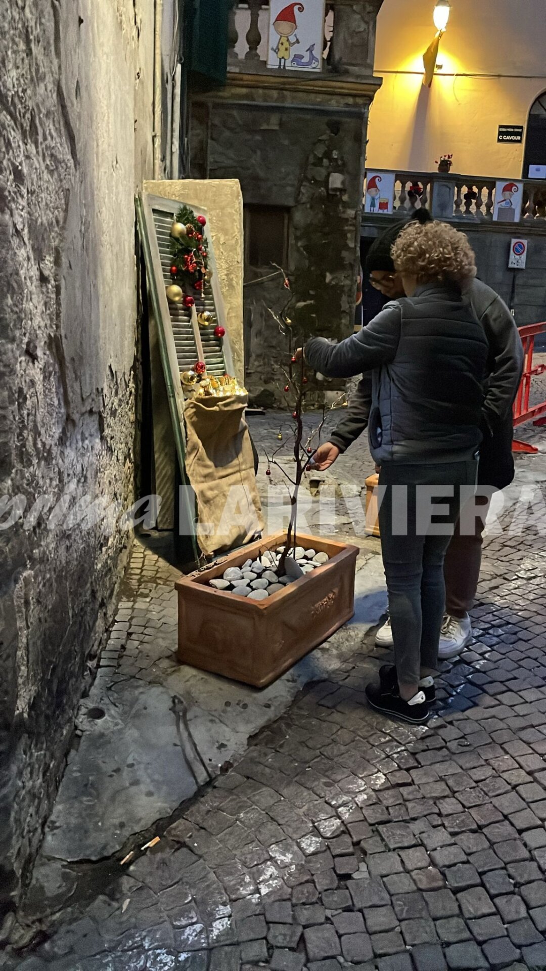
[[(154, 4), (13, 0), (0, 62), (0, 914), (39, 845), (133, 501), (134, 192), (152, 175)], [(56, 515), (50, 512), (57, 507)]]

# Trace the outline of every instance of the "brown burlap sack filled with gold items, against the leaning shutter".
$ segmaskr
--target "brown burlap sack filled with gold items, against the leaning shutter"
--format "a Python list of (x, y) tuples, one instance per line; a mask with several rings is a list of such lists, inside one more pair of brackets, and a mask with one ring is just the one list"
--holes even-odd
[(248, 398), (186, 403), (186, 471), (197, 499), (197, 541), (205, 555), (250, 542), (263, 529), (254, 455), (244, 418)]

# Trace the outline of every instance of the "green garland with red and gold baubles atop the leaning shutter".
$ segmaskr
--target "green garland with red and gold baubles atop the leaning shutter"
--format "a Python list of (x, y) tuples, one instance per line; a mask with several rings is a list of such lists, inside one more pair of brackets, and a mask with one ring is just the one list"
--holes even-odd
[(208, 265), (206, 224), (204, 216), (195, 216), (189, 206), (181, 206), (171, 226), (171, 277), (184, 281), (197, 293), (213, 275)]

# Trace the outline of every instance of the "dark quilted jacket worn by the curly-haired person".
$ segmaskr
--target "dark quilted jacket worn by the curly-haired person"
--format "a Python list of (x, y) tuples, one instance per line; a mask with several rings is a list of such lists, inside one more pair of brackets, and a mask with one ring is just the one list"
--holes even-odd
[(478, 450), (487, 373), (483, 327), (454, 286), (420, 286), (340, 344), (305, 348), (326, 377), (371, 370), (368, 419), (376, 462), (447, 462)]

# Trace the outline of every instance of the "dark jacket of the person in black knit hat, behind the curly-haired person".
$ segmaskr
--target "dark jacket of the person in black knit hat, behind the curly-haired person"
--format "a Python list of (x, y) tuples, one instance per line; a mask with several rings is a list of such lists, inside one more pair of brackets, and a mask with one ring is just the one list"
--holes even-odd
[[(524, 352), (518, 328), (495, 290), (473, 280), (465, 299), (480, 320), (489, 344), (482, 411), (478, 482), (504, 488), (514, 478), (512, 405), (522, 377)], [(371, 407), (371, 374), (364, 374), (343, 419), (329, 437), (345, 452), (367, 427)]]

